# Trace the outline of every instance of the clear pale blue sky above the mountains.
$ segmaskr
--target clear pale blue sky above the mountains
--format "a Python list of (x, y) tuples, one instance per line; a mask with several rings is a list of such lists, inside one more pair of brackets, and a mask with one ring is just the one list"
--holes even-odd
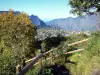
[(70, 13), (69, 0), (0, 0), (0, 11), (13, 9), (29, 15), (37, 15), (44, 21), (75, 17)]

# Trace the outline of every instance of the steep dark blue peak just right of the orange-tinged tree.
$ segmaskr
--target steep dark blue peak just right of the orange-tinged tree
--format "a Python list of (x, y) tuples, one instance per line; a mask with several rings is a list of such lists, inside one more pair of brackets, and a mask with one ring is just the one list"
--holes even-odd
[(43, 22), (42, 20), (40, 20), (38, 16), (31, 15), (31, 16), (30, 16), (30, 20), (31, 20), (32, 23), (35, 24), (38, 28), (47, 28), (47, 27), (50, 27), (50, 26), (47, 26), (47, 25), (45, 24), (45, 22)]

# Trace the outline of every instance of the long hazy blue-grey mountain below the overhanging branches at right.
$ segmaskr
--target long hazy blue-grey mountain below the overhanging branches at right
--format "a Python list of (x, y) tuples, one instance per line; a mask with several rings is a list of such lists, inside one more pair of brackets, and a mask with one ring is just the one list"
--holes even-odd
[(83, 17), (76, 18), (68, 17), (54, 19), (46, 22), (46, 24), (52, 27), (62, 28), (64, 30), (94, 31), (97, 30), (98, 18), (96, 15), (85, 15)]

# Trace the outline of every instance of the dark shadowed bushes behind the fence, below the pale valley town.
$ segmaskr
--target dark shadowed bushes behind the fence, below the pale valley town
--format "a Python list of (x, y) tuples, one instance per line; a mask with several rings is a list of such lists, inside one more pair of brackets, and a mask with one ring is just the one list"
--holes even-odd
[(53, 47), (57, 47), (61, 42), (65, 41), (66, 38), (62, 35), (57, 35), (56, 37), (46, 37), (43, 40), (38, 40), (36, 38), (34, 47), (36, 49), (41, 49), (43, 52), (51, 50)]

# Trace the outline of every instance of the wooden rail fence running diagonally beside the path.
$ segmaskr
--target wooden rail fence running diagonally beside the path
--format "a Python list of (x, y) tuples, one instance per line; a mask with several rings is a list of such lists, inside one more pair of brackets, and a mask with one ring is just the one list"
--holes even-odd
[[(90, 39), (90, 38), (89, 38)], [(79, 43), (84, 43), (84, 42), (87, 42), (89, 39), (84, 39), (84, 40), (81, 40), (81, 41), (77, 41), (77, 42), (74, 42), (74, 43), (71, 43), (71, 44), (68, 44), (68, 46), (73, 46), (73, 45), (76, 45), (76, 44), (79, 44)], [(83, 51), (84, 49), (78, 49), (78, 50), (73, 50), (73, 51), (70, 51), (70, 52), (66, 52), (64, 54), (72, 54), (72, 53), (75, 53), (75, 52), (81, 52)], [(32, 59), (29, 59), (27, 61), (25, 61), (25, 63), (28, 63), (30, 62), (28, 65), (26, 65), (22, 70), (20, 68), (20, 65), (17, 65), (16, 66), (16, 74), (17, 75), (24, 75), (33, 65), (37, 65), (39, 62), (37, 62), (40, 58), (42, 58), (44, 55), (48, 54), (48, 53), (51, 53), (53, 52), (54, 50), (50, 50), (48, 52), (45, 52), (45, 53), (41, 53), (39, 55), (37, 55), (36, 57), (32, 58)], [(55, 55), (55, 57), (58, 57), (59, 55)], [(49, 60), (51, 59), (52, 57), (49, 57), (47, 58), (46, 60)], [(44, 62), (45, 60), (43, 60), (42, 62)], [(37, 62), (37, 63), (36, 63)]]

